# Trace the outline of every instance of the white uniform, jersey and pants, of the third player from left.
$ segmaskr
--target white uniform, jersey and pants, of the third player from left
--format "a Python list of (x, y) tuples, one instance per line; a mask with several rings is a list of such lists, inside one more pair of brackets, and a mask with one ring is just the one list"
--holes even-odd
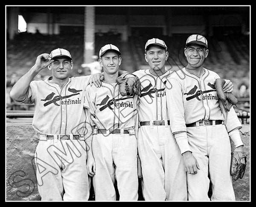
[[(138, 153), (146, 201), (187, 200), (186, 173), (180, 149), (169, 126), (166, 82), (172, 71), (154, 76), (135, 71), (141, 82)], [(161, 125), (159, 125), (161, 124)]]

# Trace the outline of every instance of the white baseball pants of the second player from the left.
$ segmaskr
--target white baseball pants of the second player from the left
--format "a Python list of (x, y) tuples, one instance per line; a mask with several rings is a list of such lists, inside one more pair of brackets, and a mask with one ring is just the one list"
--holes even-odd
[(94, 134), (93, 156), (96, 172), (93, 187), (96, 201), (138, 200), (137, 139), (129, 134)]

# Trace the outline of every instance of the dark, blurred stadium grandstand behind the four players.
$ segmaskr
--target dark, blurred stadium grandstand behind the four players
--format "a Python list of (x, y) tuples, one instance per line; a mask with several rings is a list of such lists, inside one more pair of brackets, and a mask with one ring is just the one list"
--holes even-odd
[[(208, 40), (205, 67), (230, 79), (239, 98), (239, 85), (250, 82), (250, 12), (239, 6), (20, 6), (7, 7), (6, 82), (28, 71), (36, 57), (54, 48), (66, 48), (73, 56), (73, 76), (81, 64), (89, 63), (99, 49), (112, 43), (122, 51), (121, 69), (133, 72), (148, 68), (144, 47), (153, 37), (166, 42), (169, 59), (166, 69), (186, 65), (184, 44), (191, 34)], [(111, 15), (110, 15), (111, 14)], [(12, 19), (22, 15), (25, 32), (19, 32)], [(86, 47), (90, 42), (92, 47)], [(41, 71), (40, 77), (50, 75)], [(8, 85), (9, 86), (9, 85)]]

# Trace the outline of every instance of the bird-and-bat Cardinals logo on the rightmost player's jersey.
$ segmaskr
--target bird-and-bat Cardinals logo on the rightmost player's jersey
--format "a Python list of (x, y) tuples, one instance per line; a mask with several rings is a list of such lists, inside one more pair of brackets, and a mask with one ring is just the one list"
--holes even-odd
[[(210, 82), (208, 82), (208, 84), (207, 84), (210, 88), (212, 88), (211, 90), (206, 90), (206, 91), (201, 91), (201, 89), (199, 89), (196, 85), (192, 88), (192, 89), (190, 89), (189, 90), (189, 92), (187, 92), (187, 93), (184, 93), (184, 95), (189, 95), (188, 97), (186, 97), (186, 100), (187, 101), (189, 101), (189, 100), (191, 100), (191, 99), (194, 99), (194, 98), (196, 98), (196, 99), (198, 99), (198, 101), (201, 101), (201, 99), (199, 98), (199, 96), (201, 96), (202, 97), (202, 99), (209, 99), (209, 100), (211, 100), (211, 99), (218, 99), (218, 96), (213, 96), (212, 94), (208, 94), (207, 96), (204, 96), (203, 94), (205, 94), (205, 93), (209, 93), (209, 92), (212, 92), (212, 91), (216, 91), (215, 90), (215, 85), (214, 84), (212, 84), (212, 83), (210, 83)], [(197, 90), (198, 89), (198, 90)], [(191, 96), (190, 96), (191, 95)]]

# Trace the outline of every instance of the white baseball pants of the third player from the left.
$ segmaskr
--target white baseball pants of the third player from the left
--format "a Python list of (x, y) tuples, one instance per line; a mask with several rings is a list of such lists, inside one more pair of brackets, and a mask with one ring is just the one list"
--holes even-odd
[(145, 201), (186, 201), (186, 172), (170, 126), (141, 126), (137, 139)]

